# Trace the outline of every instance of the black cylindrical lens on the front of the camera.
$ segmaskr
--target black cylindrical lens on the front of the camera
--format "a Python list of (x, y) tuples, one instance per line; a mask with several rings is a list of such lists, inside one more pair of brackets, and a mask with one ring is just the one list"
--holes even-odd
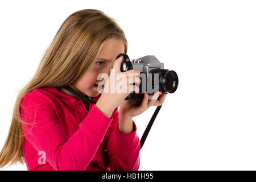
[[(154, 73), (159, 74), (159, 91), (163, 93), (174, 93), (177, 89), (179, 79), (175, 71), (170, 71), (168, 69), (152, 69), (152, 85), (154, 85)], [(156, 85), (154, 85), (156, 86)]]

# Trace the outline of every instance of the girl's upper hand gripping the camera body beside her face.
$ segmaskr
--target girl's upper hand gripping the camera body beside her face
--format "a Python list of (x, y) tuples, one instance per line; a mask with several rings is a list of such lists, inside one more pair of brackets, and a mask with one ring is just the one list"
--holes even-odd
[(141, 72), (138, 69), (121, 72), (122, 63), (122, 56), (115, 60), (110, 76), (105, 82), (104, 91), (96, 103), (98, 109), (109, 118), (114, 109), (121, 105), (130, 92), (139, 93), (139, 87), (133, 83), (141, 84), (139, 78)]

